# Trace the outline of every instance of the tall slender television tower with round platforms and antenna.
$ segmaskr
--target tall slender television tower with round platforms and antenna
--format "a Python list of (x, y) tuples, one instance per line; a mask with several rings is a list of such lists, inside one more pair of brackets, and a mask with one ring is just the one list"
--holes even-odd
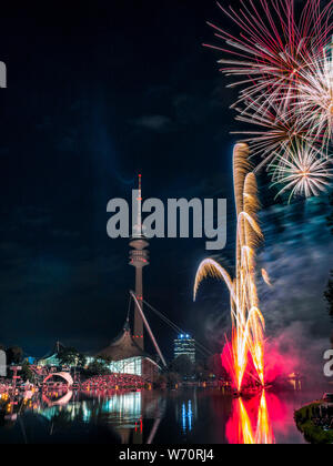
[[(133, 226), (132, 237), (130, 241), (130, 246), (132, 250), (130, 251), (130, 265), (135, 267), (135, 295), (138, 302), (143, 307), (143, 286), (142, 286), (142, 269), (149, 265), (149, 251), (147, 247), (149, 246), (149, 242), (144, 237), (142, 232), (142, 216), (141, 216), (141, 204), (142, 204), (142, 195), (141, 195), (141, 174), (139, 175), (139, 190), (135, 191), (138, 194), (137, 199), (133, 201), (137, 205), (135, 212), (135, 225)], [(143, 350), (144, 348), (144, 338), (143, 338), (143, 321), (135, 304), (134, 308), (134, 338), (139, 346)]]

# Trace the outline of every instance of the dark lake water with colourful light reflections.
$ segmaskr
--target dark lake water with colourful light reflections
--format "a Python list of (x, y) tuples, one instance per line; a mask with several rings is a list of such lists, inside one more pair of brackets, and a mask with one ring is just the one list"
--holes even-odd
[(38, 395), (17, 419), (1, 417), (0, 443), (302, 444), (294, 411), (319, 396), (268, 392), (241, 401), (203, 388)]

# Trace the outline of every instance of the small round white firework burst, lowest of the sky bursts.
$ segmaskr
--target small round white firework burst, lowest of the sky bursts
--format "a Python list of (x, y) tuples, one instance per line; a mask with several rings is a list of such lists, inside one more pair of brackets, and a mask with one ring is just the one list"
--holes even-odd
[[(333, 178), (332, 163), (309, 145), (294, 145), (272, 164), (273, 181), (284, 184), (279, 194), (291, 190), (290, 200), (296, 195), (310, 197), (325, 191)], [(279, 195), (278, 194), (278, 195)]]

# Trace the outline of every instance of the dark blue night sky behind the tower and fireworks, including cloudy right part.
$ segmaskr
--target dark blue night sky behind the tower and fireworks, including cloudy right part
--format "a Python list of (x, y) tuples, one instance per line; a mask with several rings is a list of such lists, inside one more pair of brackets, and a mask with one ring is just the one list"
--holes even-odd
[[(229, 1), (225, 1), (229, 3)], [(234, 202), (229, 105), (235, 91), (218, 69), (206, 20), (229, 27), (212, 0), (94, 1), (80, 8), (29, 2), (2, 11), (0, 60), (0, 343), (41, 356), (60, 340), (104, 347), (122, 328), (134, 270), (127, 240), (107, 236), (107, 203), (131, 197), (226, 197), (233, 272)], [(260, 283), (269, 335), (329, 347), (323, 290), (332, 264), (327, 196), (274, 205), (264, 176), (266, 242)], [(153, 240), (145, 298), (213, 351), (229, 328), (221, 283), (192, 285), (205, 240)], [(174, 333), (148, 313), (168, 357)], [(302, 340), (304, 338), (304, 341)], [(326, 346), (325, 346), (326, 345)]]

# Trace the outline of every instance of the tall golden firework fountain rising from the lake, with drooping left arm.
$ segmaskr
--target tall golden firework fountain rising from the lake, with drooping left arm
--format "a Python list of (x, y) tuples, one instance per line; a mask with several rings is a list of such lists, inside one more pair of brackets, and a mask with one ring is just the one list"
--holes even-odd
[(255, 286), (255, 255), (263, 235), (258, 223), (258, 188), (249, 164), (249, 146), (238, 144), (234, 151), (234, 191), (238, 213), (236, 276), (215, 261), (203, 261), (198, 270), (194, 298), (201, 281), (208, 276), (224, 280), (231, 296), (232, 342), (230, 369), (234, 385), (241, 389), (251, 356), (258, 379), (264, 385), (264, 318), (259, 308)]

